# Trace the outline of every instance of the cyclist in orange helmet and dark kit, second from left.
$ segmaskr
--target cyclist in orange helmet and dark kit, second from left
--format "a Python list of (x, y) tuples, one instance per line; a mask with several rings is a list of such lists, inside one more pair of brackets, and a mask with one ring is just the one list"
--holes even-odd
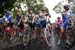
[(22, 20), (22, 16), (21, 16), (21, 11), (19, 9), (16, 10), (16, 20), (15, 20), (15, 24), (16, 26), (18, 26), (18, 31), (22, 32), (23, 28), (24, 28), (24, 24), (23, 24), (23, 20)]

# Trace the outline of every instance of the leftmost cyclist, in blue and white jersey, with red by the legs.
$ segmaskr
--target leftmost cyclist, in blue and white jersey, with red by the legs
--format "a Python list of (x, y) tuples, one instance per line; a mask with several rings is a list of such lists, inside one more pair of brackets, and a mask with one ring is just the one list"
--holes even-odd
[(8, 32), (7, 35), (11, 36), (10, 30), (11, 30), (11, 27), (12, 27), (12, 15), (11, 15), (10, 11), (6, 11), (5, 16), (3, 17), (3, 22), (4, 22), (4, 31)]

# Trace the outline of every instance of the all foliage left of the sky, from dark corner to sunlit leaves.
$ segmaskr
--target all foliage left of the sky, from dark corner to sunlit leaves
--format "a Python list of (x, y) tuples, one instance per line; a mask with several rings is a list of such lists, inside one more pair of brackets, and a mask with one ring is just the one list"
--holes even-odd
[[(14, 9), (15, 7), (21, 8), (20, 3), (22, 3), (22, 2), (25, 3), (28, 8), (32, 7), (35, 14), (38, 14), (39, 10), (44, 7), (43, 0), (38, 0), (38, 1), (37, 0), (6, 0), (6, 2), (3, 2), (4, 5), (0, 7), (0, 14), (4, 14), (5, 10), (11, 10), (12, 8)], [(16, 4), (14, 4), (14, 3), (16, 3)], [(48, 11), (48, 9), (47, 9), (47, 11)], [(14, 9), (13, 13), (14, 13), (13, 16), (15, 17), (15, 9)], [(26, 13), (27, 13), (27, 10), (22, 11), (22, 14), (26, 14)]]

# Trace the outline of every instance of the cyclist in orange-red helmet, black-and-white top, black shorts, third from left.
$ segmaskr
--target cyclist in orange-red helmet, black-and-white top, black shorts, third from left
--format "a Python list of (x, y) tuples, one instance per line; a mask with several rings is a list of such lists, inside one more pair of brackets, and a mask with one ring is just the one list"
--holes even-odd
[(36, 40), (35, 21), (34, 21), (35, 14), (33, 13), (32, 8), (28, 9), (27, 18), (28, 18), (28, 24), (29, 24), (30, 28), (32, 29), (33, 38), (34, 38), (34, 40)]

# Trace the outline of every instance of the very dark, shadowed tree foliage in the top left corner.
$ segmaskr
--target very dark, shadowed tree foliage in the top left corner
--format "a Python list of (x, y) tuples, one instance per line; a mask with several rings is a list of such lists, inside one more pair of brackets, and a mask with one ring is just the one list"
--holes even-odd
[(11, 10), (16, 0), (1, 0), (0, 2), (0, 14), (4, 14), (5, 10)]

